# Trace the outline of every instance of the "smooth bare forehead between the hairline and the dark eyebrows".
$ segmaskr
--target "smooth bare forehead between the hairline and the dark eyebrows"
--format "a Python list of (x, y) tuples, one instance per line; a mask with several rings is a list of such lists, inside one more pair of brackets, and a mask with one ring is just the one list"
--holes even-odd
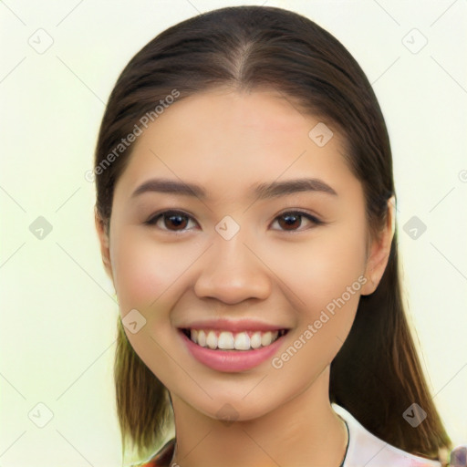
[[(313, 138), (317, 125), (333, 132), (325, 145)], [(157, 175), (195, 179), (219, 194), (241, 191), (240, 182), (351, 176), (337, 129), (319, 125), (326, 124), (274, 91), (198, 93), (176, 100), (143, 130), (119, 184), (130, 190)]]

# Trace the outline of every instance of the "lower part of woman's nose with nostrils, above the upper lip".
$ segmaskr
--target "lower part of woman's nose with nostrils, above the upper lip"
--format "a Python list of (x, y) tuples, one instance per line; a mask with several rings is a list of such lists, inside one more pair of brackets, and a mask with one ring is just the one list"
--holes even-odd
[(230, 240), (221, 236), (203, 254), (201, 272), (194, 285), (200, 298), (212, 297), (233, 305), (249, 298), (265, 300), (271, 294), (271, 271), (260, 252), (245, 244), (237, 234)]

